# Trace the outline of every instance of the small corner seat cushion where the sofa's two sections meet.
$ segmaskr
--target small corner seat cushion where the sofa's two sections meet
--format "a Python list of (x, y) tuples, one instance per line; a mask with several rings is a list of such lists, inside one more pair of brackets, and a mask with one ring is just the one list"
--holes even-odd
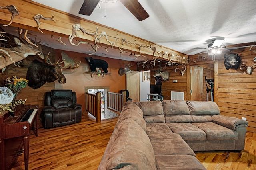
[(147, 134), (172, 133), (165, 123), (146, 123)]

